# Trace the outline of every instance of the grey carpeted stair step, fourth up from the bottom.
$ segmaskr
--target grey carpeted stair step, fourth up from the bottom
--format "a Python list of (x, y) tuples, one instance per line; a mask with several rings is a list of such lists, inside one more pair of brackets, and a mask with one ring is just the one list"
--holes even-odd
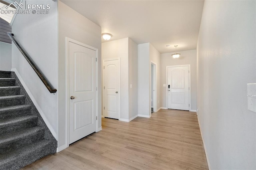
[(0, 121), (18, 116), (29, 115), (30, 110), (30, 105), (16, 105), (0, 108)]

